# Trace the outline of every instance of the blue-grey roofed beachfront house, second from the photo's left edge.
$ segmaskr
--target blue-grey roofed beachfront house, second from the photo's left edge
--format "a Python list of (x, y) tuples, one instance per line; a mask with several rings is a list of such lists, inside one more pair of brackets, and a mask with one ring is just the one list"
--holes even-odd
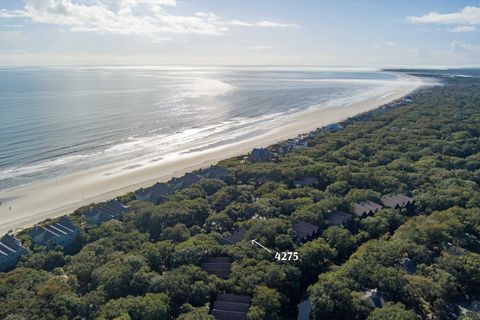
[(80, 234), (80, 229), (68, 217), (64, 216), (58, 222), (45, 226), (36, 225), (28, 233), (30, 239), (40, 246), (49, 249), (61, 246), (64, 248), (73, 244)]

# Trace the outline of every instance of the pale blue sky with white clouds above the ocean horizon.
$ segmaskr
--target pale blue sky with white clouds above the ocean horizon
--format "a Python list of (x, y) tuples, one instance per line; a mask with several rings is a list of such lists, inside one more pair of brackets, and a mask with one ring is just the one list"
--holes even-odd
[(2, 0), (0, 65), (480, 65), (480, 0)]

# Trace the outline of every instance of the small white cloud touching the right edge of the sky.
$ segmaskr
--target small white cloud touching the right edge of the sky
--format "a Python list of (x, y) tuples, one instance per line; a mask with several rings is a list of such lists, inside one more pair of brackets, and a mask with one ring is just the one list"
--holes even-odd
[(410, 16), (407, 21), (417, 24), (457, 24), (461, 26), (480, 25), (480, 7), (465, 7), (458, 12), (430, 12), (423, 16)]

